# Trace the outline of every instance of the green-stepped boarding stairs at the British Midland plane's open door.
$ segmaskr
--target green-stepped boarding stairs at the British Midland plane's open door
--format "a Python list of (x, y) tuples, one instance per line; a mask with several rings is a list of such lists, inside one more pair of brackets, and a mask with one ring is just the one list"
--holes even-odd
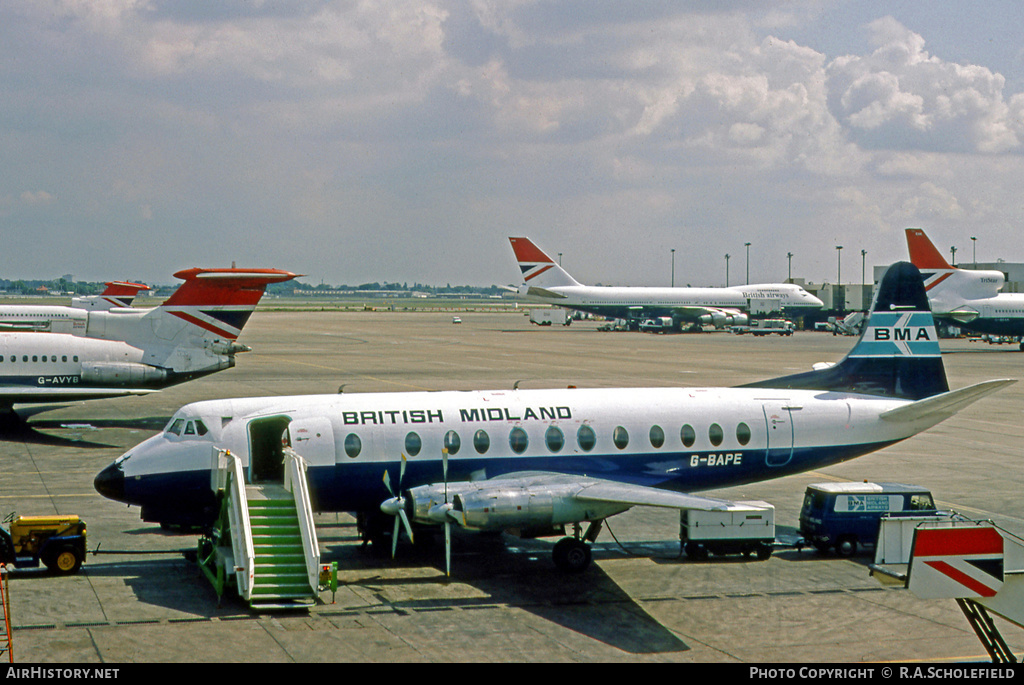
[(211, 485), (221, 514), (200, 540), (199, 561), (218, 601), (233, 586), (255, 610), (313, 605), (319, 548), (305, 461), (286, 448), (284, 482), (247, 483), (238, 456), (215, 451), (213, 460)]

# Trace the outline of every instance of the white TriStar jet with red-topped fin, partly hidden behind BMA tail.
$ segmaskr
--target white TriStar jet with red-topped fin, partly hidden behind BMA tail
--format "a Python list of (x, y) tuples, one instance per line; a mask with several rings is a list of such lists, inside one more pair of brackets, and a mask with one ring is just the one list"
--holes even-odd
[(921, 228), (906, 229), (906, 245), (936, 317), (967, 331), (1022, 339), (1024, 294), (999, 292), (1006, 283), (1002, 271), (951, 266)]

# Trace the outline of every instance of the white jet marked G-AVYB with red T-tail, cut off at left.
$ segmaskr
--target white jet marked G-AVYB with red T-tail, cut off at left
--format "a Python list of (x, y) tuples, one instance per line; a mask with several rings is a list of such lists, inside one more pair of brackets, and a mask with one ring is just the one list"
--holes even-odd
[(52, 307), (66, 311), (46, 330), (59, 332), (0, 331), (0, 412), (144, 394), (229, 369), (249, 349), (236, 339), (266, 286), (295, 274), (191, 268), (175, 276), (184, 283), (158, 307)]

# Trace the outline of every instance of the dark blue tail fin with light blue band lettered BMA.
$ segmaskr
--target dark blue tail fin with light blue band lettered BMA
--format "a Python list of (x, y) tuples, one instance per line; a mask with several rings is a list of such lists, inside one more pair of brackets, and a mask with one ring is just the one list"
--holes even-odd
[(921, 272), (889, 267), (857, 344), (839, 363), (742, 387), (836, 390), (923, 399), (949, 391)]

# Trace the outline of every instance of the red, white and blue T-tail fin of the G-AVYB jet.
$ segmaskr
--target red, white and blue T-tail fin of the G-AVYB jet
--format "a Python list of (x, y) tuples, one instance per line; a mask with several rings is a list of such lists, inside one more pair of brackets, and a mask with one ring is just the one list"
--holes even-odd
[(201, 329), (204, 337), (234, 340), (266, 287), (298, 276), (281, 269), (190, 268), (174, 274), (184, 283), (155, 312)]

